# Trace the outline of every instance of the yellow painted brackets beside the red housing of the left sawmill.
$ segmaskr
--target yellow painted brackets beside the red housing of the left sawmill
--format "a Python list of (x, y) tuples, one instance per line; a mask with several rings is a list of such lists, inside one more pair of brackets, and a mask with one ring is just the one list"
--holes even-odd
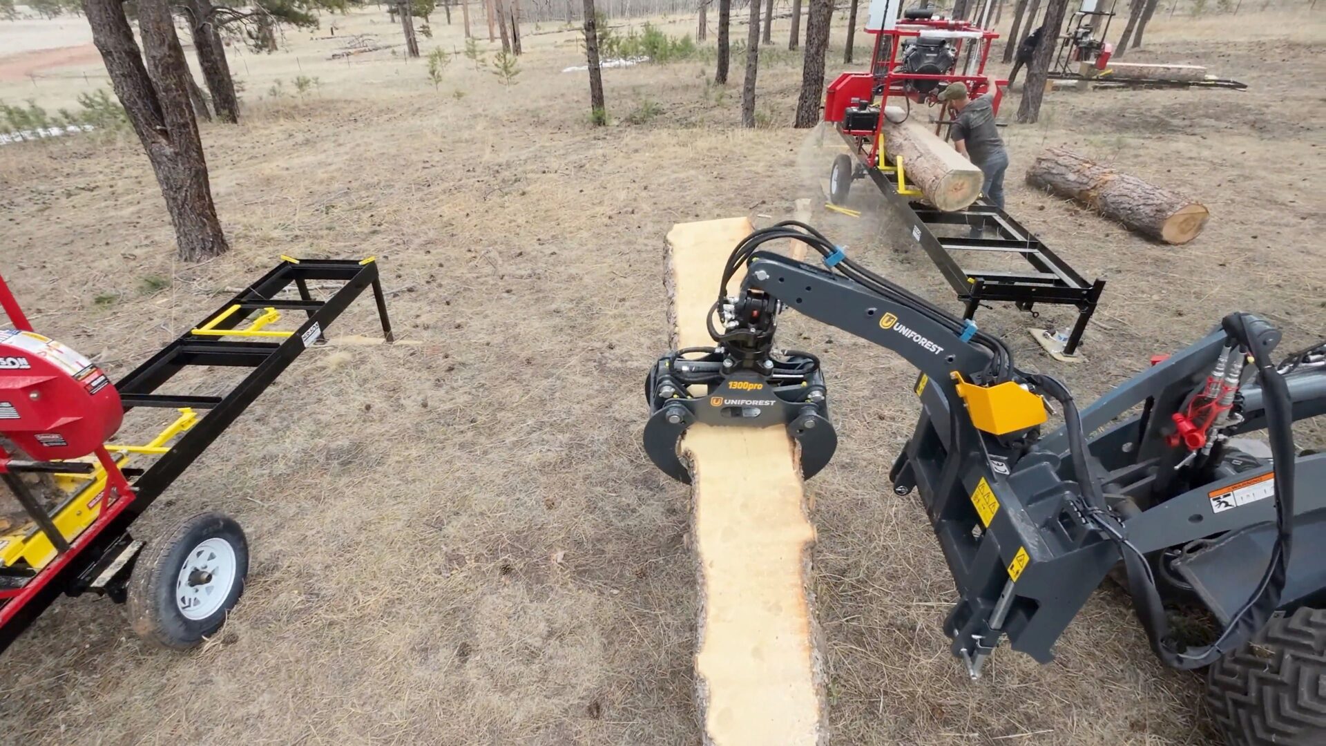
[[(114, 446), (107, 443), (106, 450), (115, 459), (115, 466), (123, 469), (129, 463), (130, 454), (159, 455), (170, 450), (168, 442), (198, 423), (198, 414), (192, 409), (180, 409), (179, 411), (179, 417), (146, 445)], [(64, 506), (50, 516), (50, 520), (65, 540), (73, 542), (101, 515), (102, 492), (106, 491), (106, 470), (98, 463), (90, 474), (61, 473), (53, 477), (56, 488), (65, 495), (73, 495), (73, 499), (65, 500)], [(32, 523), (0, 536), (0, 563), (4, 563), (5, 567), (24, 560), (30, 567), (40, 569), (53, 559), (56, 559), (54, 544)]]

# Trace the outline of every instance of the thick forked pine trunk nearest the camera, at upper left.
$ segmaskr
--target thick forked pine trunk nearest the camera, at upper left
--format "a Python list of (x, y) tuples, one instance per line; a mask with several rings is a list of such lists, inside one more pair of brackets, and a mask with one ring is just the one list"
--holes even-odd
[(188, 68), (170, 5), (166, 0), (139, 0), (143, 50), (119, 0), (84, 0), (84, 15), (115, 96), (152, 163), (175, 226), (179, 258), (198, 261), (225, 252), (229, 246), (212, 203), (207, 159), (188, 102)]

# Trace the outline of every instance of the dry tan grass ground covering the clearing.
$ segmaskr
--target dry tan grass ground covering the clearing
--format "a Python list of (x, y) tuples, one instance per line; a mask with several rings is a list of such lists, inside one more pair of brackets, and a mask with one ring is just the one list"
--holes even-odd
[[(1081, 365), (1045, 358), (1010, 308), (979, 319), (1083, 400), (1232, 309), (1280, 324), (1286, 348), (1326, 327), (1311, 190), (1322, 100), (1294, 74), (1319, 64), (1326, 27), (1249, 19), (1262, 16), (1159, 20), (1135, 57), (1205, 62), (1246, 93), (1055, 93), (1040, 125), (1005, 130), (1009, 210), (1109, 287)], [(394, 40), (385, 15), (338, 25)], [(434, 29), (424, 49), (459, 45), (459, 19)], [(0, 741), (697, 742), (688, 495), (639, 446), (640, 378), (667, 337), (668, 227), (768, 223), (805, 188), (805, 133), (781, 126), (800, 66), (778, 54), (761, 70), (760, 106), (778, 126), (753, 131), (736, 127), (735, 89), (705, 85), (705, 64), (607, 70), (618, 123), (593, 129), (582, 74), (558, 72), (579, 60), (572, 37), (529, 31), (511, 89), (464, 60), (440, 92), (422, 62), (390, 53), (326, 62), (337, 42), (308, 33), (244, 57), (248, 70), (237, 61), (244, 126), (203, 127), (233, 250), (202, 265), (172, 260), (131, 138), (0, 149), (5, 277), (38, 328), (113, 373), (280, 254), (377, 255), (399, 291), (399, 336), (422, 342), (310, 350), (145, 515), (143, 536), (203, 508), (248, 530), (251, 583), (217, 640), (158, 652), (109, 601), (62, 600), (4, 654)], [(841, 49), (830, 54), (835, 70)], [(321, 89), (290, 96), (298, 72)], [(0, 97), (24, 85), (0, 84)], [(81, 85), (68, 69), (34, 88), (57, 105)], [(646, 100), (660, 112), (626, 123)], [(1188, 190), (1211, 224), (1189, 246), (1155, 246), (1028, 191), (1021, 170), (1048, 145)], [(880, 240), (876, 214), (815, 219), (955, 308), (924, 256)], [(374, 333), (371, 303), (333, 328), (351, 332)], [(968, 681), (940, 632), (953, 599), (943, 558), (916, 502), (886, 482), (915, 413), (911, 370), (790, 315), (785, 338), (823, 354), (837, 404), (839, 454), (809, 485), (835, 742), (1209, 741), (1199, 678), (1158, 665), (1110, 589), (1054, 664), (1001, 650)]]

